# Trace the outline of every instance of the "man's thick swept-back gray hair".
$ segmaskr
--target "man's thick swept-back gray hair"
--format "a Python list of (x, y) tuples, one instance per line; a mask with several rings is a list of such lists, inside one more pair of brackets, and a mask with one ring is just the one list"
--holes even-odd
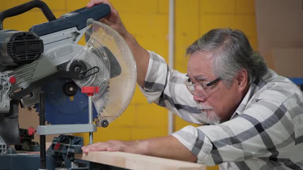
[(207, 32), (186, 49), (186, 55), (197, 52), (213, 53), (213, 72), (228, 88), (241, 69), (247, 70), (249, 84), (261, 80), (268, 70), (263, 57), (252, 49), (247, 36), (240, 30)]

